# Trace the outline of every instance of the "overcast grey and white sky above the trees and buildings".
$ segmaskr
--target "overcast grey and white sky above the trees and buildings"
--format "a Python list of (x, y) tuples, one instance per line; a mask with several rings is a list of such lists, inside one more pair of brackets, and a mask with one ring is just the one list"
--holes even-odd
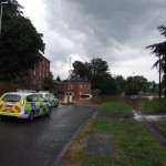
[(166, 0), (18, 0), (38, 32), (44, 56), (56, 79), (68, 77), (74, 61), (102, 58), (111, 73), (143, 75), (158, 82), (155, 55), (147, 45), (165, 39), (156, 29), (166, 25)]

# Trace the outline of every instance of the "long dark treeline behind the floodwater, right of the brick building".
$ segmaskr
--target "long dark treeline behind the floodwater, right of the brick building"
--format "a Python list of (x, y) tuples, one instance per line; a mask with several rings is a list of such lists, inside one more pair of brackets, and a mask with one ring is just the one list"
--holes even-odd
[(104, 95), (122, 93), (134, 95), (141, 92), (155, 92), (157, 89), (155, 82), (148, 82), (143, 75), (128, 76), (126, 79), (122, 75), (112, 75), (107, 62), (100, 58), (85, 63), (75, 61), (72, 75), (87, 79), (91, 82), (92, 90), (96, 90)]

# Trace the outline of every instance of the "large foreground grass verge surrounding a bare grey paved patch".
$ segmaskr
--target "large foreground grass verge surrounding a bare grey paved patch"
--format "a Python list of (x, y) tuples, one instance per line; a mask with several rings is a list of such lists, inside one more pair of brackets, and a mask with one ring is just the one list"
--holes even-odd
[[(90, 133), (111, 134), (116, 156), (85, 154), (83, 139)], [(93, 120), (82, 128), (61, 166), (166, 166), (166, 147), (136, 121)]]

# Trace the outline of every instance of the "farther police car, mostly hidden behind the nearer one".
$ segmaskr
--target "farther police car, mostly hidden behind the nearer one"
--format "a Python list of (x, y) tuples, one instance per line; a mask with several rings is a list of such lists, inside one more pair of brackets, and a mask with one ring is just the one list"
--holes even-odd
[(50, 92), (39, 92), (39, 94), (44, 97), (52, 107), (59, 106), (59, 100)]

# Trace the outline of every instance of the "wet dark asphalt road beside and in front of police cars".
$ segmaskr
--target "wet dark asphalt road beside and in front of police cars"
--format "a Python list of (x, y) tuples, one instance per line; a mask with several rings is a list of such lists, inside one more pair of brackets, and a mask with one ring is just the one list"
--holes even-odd
[(92, 107), (60, 105), (51, 117), (0, 121), (0, 166), (56, 166)]

